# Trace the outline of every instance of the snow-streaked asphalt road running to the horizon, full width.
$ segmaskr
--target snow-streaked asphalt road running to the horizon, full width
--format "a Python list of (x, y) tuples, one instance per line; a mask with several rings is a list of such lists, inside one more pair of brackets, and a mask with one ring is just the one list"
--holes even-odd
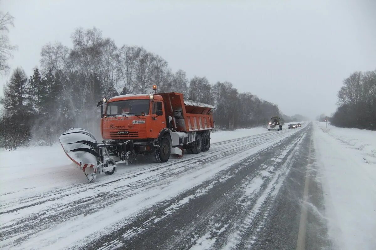
[[(0, 194), (0, 247), (336, 249), (341, 235), (327, 236), (318, 132), (303, 123), (218, 139), (208, 152), (119, 167), (91, 184), (67, 167), (55, 184), (27, 187), (16, 178), (22, 188), (3, 189), (12, 186), (9, 174)], [(58, 181), (64, 178), (72, 180)]]

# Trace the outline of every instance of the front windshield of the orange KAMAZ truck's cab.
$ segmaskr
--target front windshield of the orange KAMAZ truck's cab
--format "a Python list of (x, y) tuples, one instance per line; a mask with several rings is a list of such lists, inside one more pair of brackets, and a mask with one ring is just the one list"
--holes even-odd
[(109, 102), (106, 115), (141, 115), (142, 112), (149, 114), (150, 100), (124, 100)]

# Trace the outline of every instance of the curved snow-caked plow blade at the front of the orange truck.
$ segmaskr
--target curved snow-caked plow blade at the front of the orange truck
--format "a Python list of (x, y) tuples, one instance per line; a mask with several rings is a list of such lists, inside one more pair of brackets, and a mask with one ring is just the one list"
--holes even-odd
[[(96, 179), (99, 160), (97, 141), (94, 136), (85, 129), (71, 128), (59, 137), (65, 154), (85, 173), (89, 182)], [(87, 169), (93, 169), (92, 174), (87, 174)]]

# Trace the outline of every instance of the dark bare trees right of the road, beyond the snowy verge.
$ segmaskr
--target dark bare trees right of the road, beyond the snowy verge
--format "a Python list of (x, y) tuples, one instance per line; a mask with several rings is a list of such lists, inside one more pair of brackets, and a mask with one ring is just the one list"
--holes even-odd
[(376, 70), (352, 73), (337, 96), (338, 108), (331, 124), (376, 130)]

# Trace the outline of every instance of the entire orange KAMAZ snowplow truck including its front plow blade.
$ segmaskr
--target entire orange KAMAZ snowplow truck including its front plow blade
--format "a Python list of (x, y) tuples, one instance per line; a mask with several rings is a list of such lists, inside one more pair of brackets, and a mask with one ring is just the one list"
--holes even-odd
[(96, 169), (94, 173), (99, 168), (99, 174), (113, 174), (117, 163), (132, 162), (140, 154), (167, 162), (173, 147), (193, 154), (209, 150), (214, 107), (184, 100), (181, 93), (126, 94), (103, 98), (97, 106), (102, 144), (89, 131), (77, 128), (59, 138), (65, 153), (81, 168), (86, 165)]

